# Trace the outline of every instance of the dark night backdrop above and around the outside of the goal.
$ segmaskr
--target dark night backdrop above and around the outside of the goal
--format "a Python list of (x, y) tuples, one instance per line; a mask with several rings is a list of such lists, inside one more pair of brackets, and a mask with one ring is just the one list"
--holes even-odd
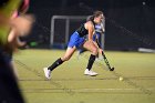
[(30, 47), (50, 48), (52, 16), (89, 16), (94, 10), (106, 17), (105, 50), (155, 49), (155, 0), (31, 0), (29, 12), (37, 21)]

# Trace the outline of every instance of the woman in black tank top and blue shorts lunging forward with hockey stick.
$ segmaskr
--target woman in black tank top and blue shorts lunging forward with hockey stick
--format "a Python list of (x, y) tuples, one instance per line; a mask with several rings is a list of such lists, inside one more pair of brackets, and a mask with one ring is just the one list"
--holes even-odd
[[(86, 70), (84, 71), (84, 74), (86, 75), (97, 75), (97, 73), (93, 72), (92, 65), (95, 61), (95, 58), (99, 53), (99, 47), (97, 43), (93, 41), (93, 34), (94, 34), (94, 27), (95, 24), (100, 24), (103, 20), (104, 16), (102, 11), (95, 11), (93, 13), (93, 17), (86, 21), (85, 23), (83, 23), (70, 38), (69, 44), (68, 44), (68, 49), (65, 54), (58, 59), (49, 68), (44, 68), (44, 74), (46, 79), (51, 79), (51, 72), (59, 66), (60, 64), (62, 64), (64, 61), (70, 60), (70, 58), (73, 55), (73, 53), (75, 52), (76, 49), (79, 48), (84, 48), (89, 51), (91, 51), (91, 55), (89, 59), (89, 63), (86, 66)], [(87, 35), (87, 40), (85, 40), (85, 35)], [(102, 49), (100, 49), (100, 51), (102, 51)]]

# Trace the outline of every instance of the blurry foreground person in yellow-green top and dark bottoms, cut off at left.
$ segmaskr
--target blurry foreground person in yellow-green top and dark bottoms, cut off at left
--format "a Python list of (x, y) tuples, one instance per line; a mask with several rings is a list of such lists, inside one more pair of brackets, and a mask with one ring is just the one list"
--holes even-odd
[[(0, 1), (0, 103), (24, 103), (17, 79), (10, 65), (10, 52), (18, 48), (17, 38), (31, 29), (31, 16), (11, 19), (19, 8), (20, 0)], [(16, 32), (9, 40), (9, 32)]]

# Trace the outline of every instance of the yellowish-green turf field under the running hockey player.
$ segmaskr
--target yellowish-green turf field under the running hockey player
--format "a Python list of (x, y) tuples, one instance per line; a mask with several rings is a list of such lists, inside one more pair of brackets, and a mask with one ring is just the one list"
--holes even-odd
[[(14, 55), (19, 84), (27, 103), (155, 103), (155, 54), (105, 51), (114, 72), (95, 61), (97, 76), (83, 75), (90, 53), (72, 59), (46, 81), (43, 68), (65, 51), (23, 50)], [(123, 81), (118, 81), (123, 76)]]

